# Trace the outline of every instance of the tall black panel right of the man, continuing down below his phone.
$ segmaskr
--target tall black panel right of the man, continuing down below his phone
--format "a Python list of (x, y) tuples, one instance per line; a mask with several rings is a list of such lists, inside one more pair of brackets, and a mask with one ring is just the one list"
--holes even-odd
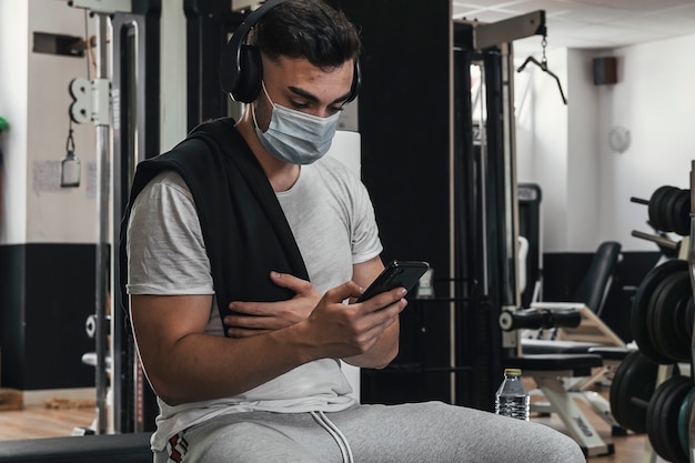
[[(357, 100), (362, 178), (370, 191), (384, 261), (425, 260), (435, 294), (447, 295), (450, 262), (450, 1), (333, 0), (359, 27)], [(427, 24), (423, 32), (423, 24)], [(364, 402), (449, 400), (449, 312), (411, 301), (401, 353), (385, 371), (364, 371)]]

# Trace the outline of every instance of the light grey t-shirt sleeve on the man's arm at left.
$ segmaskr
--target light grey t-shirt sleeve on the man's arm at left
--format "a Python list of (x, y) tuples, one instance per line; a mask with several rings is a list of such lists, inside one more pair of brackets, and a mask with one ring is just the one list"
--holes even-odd
[(132, 204), (128, 223), (129, 294), (213, 294), (195, 203), (183, 179), (163, 172)]

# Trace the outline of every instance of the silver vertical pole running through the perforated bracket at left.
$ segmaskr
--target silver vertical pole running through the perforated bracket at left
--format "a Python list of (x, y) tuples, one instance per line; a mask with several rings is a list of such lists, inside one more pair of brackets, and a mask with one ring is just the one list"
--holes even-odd
[[(95, 256), (95, 314), (97, 314), (97, 368), (94, 385), (97, 390), (97, 434), (108, 430), (107, 353), (109, 320), (107, 318), (107, 282), (109, 280), (108, 235), (109, 235), (109, 81), (108, 81), (108, 16), (97, 13), (97, 256)], [(104, 83), (105, 82), (105, 83)], [(103, 93), (107, 94), (103, 94)], [(105, 104), (105, 107), (103, 107)]]

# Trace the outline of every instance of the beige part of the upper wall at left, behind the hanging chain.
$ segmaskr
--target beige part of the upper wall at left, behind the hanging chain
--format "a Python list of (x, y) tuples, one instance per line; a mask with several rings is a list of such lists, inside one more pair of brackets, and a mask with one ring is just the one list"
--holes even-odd
[[(30, 1), (29, 10), (31, 48), (34, 31), (75, 37), (93, 34), (93, 20), (87, 21), (85, 32), (84, 10), (70, 8), (67, 2)], [(90, 73), (94, 79), (91, 63)], [(27, 242), (84, 243), (95, 239), (95, 185), (94, 175), (90, 174), (95, 160), (94, 125), (91, 122), (72, 124), (74, 152), (82, 169), (79, 188), (61, 189), (60, 170), (43, 171), (57, 165), (56, 161), (66, 155), (68, 110), (72, 103), (69, 84), (78, 77), (88, 78), (87, 58), (29, 51)]]

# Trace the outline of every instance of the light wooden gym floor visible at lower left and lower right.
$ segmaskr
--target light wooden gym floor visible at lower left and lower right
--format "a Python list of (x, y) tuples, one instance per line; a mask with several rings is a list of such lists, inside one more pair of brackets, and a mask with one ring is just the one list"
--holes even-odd
[[(607, 396), (608, 387), (601, 387), (600, 393)], [(582, 402), (580, 406), (585, 406)], [(626, 436), (612, 436), (610, 426), (592, 412), (586, 416), (591, 424), (601, 433), (605, 442), (613, 442), (615, 453), (608, 456), (595, 456), (591, 463), (638, 463), (645, 461), (648, 452), (646, 435), (628, 434)], [(72, 435), (75, 427), (88, 427), (94, 420), (93, 406), (83, 403), (53, 403), (31, 404), (23, 410), (0, 411), (0, 441), (17, 439), (39, 439)], [(533, 421), (545, 423), (550, 426), (563, 430), (562, 422), (556, 415), (550, 417), (532, 417)], [(658, 459), (657, 462), (663, 462)]]

